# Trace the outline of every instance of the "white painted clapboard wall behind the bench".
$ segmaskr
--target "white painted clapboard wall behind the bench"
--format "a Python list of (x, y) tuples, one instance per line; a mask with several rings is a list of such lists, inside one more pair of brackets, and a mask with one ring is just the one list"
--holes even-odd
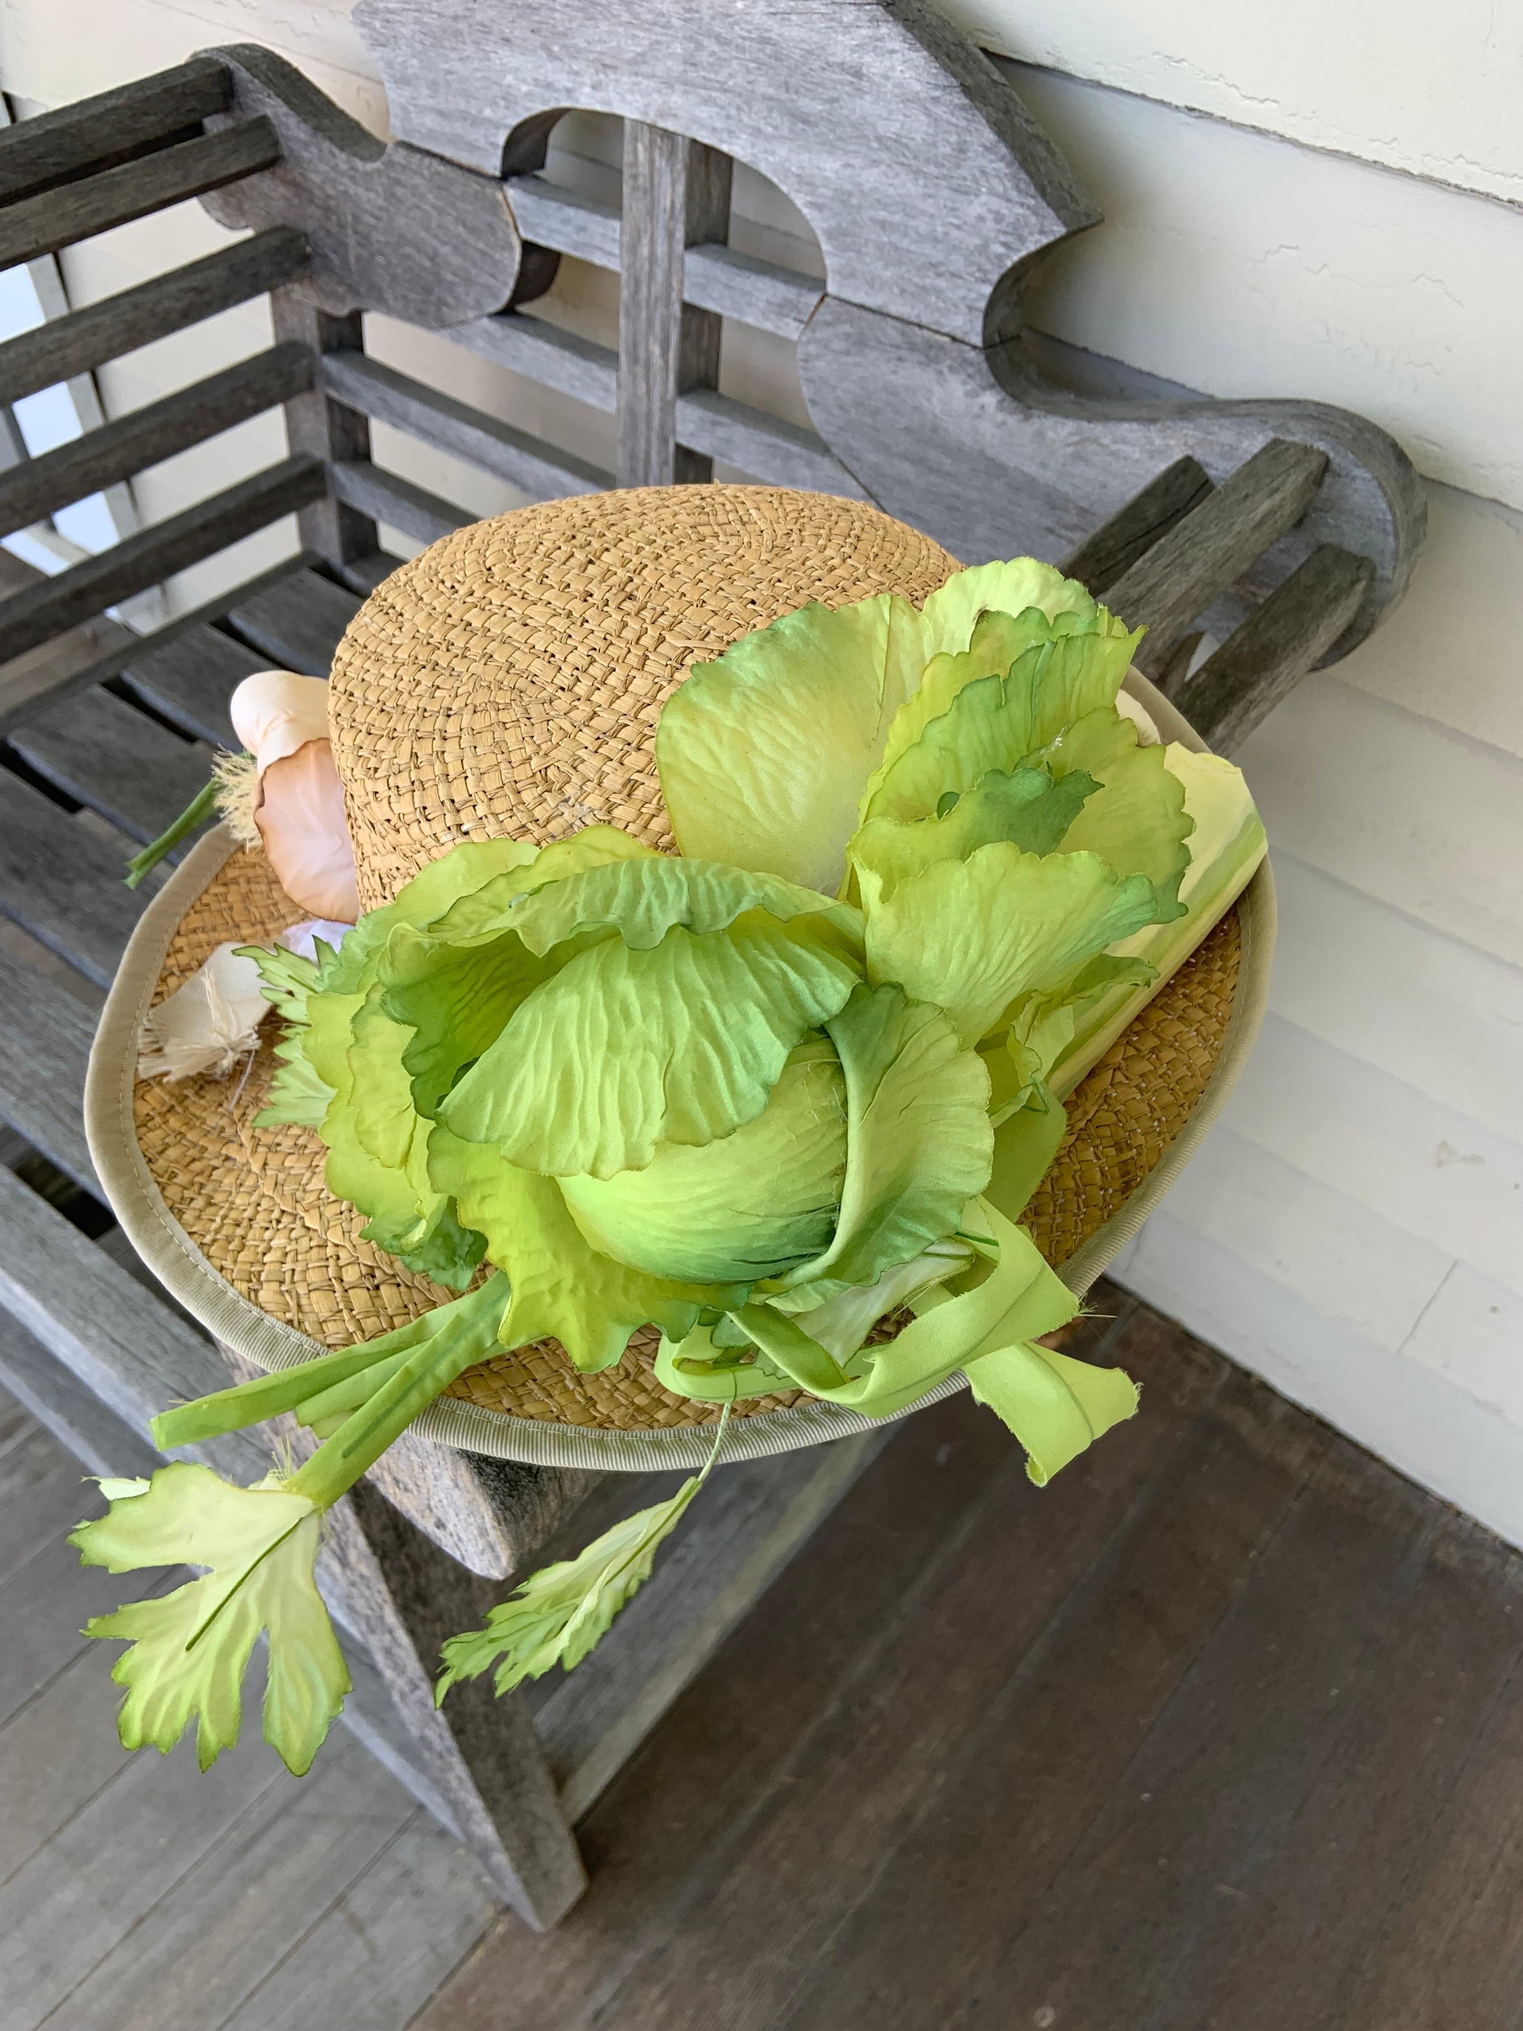
[[(1261, 1050), (1123, 1280), (1523, 1544), (1523, 16), (1454, 0), (946, 0), (1107, 213), (1058, 250), (1034, 321), (1095, 374), (1314, 396), (1393, 431), (1436, 483), (1405, 605), (1245, 745), (1281, 944)], [(8, 0), (0, 85), (61, 104), (221, 41), (266, 41), (384, 130), (343, 4)], [(1306, 51), (1316, 51), (1316, 63)], [(607, 195), (617, 140), (567, 122), (554, 173)], [(794, 268), (798, 213), (737, 177), (735, 240)], [(211, 250), (187, 205), (63, 256), (75, 303)], [(536, 311), (613, 341), (611, 276), (565, 260)], [(268, 345), (262, 309), (102, 370), (112, 412)], [(611, 418), (443, 339), (370, 349), (567, 449)], [(1070, 355), (1072, 364), (1072, 355)], [(806, 420), (792, 349), (727, 329), (723, 386)], [(378, 457), (479, 514), (510, 487), (378, 427)], [(382, 443), (386, 439), (386, 443)], [(136, 481), (148, 520), (280, 455), (242, 424)], [(398, 552), (416, 548), (388, 534)], [(211, 571), (294, 544), (250, 538)], [(227, 581), (231, 583), (231, 581)]]

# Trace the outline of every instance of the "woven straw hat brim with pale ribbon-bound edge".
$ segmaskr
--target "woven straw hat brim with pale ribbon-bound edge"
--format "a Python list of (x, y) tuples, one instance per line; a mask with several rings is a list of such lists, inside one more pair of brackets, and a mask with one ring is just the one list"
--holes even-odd
[[(1202, 745), (1135, 672), (1127, 691), (1166, 739)], [(272, 1024), (242, 1078), (136, 1076), (142, 1020), (158, 999), (215, 944), (268, 942), (303, 914), (268, 863), (225, 829), (203, 839), (138, 922), (85, 1091), (95, 1170), (138, 1255), (187, 1312), (260, 1369), (347, 1347), (451, 1296), (361, 1239), (363, 1219), (323, 1182), (327, 1152), (313, 1129), (252, 1127), (272, 1070)], [(1265, 863), (1070, 1095), (1068, 1135), (1023, 1225), (1078, 1296), (1133, 1239), (1220, 1111), (1263, 1016), (1273, 928)], [(922, 1403), (961, 1387), (958, 1373)], [(788, 1452), (871, 1424), (804, 1395), (737, 1412), (727, 1458)], [(701, 1464), (715, 1416), (715, 1405), (662, 1389), (640, 1342), (603, 1375), (581, 1375), (546, 1345), (469, 1371), (414, 1430), (534, 1466), (650, 1470)]]

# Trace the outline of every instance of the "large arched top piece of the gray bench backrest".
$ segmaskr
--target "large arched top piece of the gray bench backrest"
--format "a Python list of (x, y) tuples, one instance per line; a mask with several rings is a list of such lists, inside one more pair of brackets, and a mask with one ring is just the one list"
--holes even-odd
[(1097, 215), (1011, 85), (924, 0), (630, 0), (617, 35), (581, 37), (562, 0), (361, 0), (355, 22), (402, 140), (522, 173), (544, 160), (546, 108), (688, 134), (794, 199), (835, 294), (971, 343), (1001, 276)]

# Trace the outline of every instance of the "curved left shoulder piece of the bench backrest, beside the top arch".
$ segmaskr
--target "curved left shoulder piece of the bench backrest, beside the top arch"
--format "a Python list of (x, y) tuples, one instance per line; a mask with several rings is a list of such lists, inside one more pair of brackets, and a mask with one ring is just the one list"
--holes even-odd
[(209, 197), (207, 211), (223, 225), (299, 225), (319, 309), (437, 329), (508, 303), (520, 238), (495, 167), (477, 175), (441, 160), (449, 148), (386, 146), (268, 49), (209, 55), (231, 73), (234, 114), (268, 120), (282, 154), (258, 181)]

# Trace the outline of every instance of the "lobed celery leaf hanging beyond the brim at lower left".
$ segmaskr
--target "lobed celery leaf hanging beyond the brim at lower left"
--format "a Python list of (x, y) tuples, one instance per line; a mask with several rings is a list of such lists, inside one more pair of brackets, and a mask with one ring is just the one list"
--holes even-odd
[(197, 1728), (207, 1769), (242, 1726), (242, 1682), (268, 1631), (264, 1739), (303, 1775), (349, 1692), (333, 1625), (313, 1580), (319, 1511), (278, 1487), (234, 1489), (205, 1466), (160, 1466), (146, 1493), (118, 1497), (71, 1544), (87, 1566), (207, 1566), (203, 1580), (136, 1600), (85, 1625), (124, 1637), (112, 1678), (126, 1686), (118, 1732), (126, 1749), (169, 1751)]

